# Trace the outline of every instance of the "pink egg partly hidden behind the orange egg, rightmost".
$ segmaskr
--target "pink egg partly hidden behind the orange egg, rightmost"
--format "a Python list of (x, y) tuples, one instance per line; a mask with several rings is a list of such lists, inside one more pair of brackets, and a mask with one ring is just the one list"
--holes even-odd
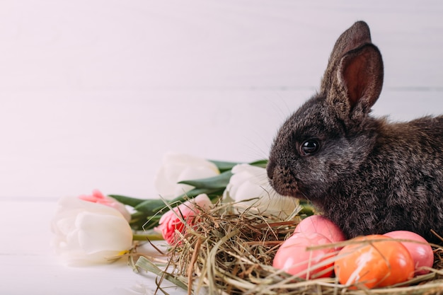
[(383, 236), (418, 242), (400, 241), (408, 249), (410, 256), (414, 260), (415, 274), (427, 274), (429, 270), (423, 270), (421, 267), (432, 267), (434, 265), (434, 252), (431, 245), (418, 233), (413, 233), (412, 231), (391, 231)]

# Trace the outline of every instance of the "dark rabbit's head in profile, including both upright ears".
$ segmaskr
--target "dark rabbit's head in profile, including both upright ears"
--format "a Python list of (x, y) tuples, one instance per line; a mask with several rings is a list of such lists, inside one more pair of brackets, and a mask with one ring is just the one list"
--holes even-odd
[(314, 203), (332, 197), (330, 188), (352, 177), (374, 147), (379, 123), (369, 112), (382, 83), (381, 54), (359, 21), (335, 43), (320, 91), (277, 133), (267, 166), (272, 187)]

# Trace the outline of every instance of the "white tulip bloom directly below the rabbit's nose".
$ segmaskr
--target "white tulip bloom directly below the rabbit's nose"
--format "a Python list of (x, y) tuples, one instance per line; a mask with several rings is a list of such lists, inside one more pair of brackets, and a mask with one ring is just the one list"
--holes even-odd
[(275, 192), (267, 180), (265, 168), (238, 164), (232, 168), (232, 173), (234, 175), (229, 180), (224, 198), (238, 202), (236, 207), (241, 211), (250, 209), (260, 213), (289, 215), (299, 204), (298, 199), (283, 197)]

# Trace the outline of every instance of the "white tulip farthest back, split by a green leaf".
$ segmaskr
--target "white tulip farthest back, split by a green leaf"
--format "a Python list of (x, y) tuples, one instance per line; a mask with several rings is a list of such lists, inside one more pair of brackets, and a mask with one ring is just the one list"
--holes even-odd
[(194, 188), (179, 184), (179, 181), (209, 178), (219, 174), (217, 166), (204, 158), (168, 153), (163, 156), (163, 166), (156, 173), (154, 185), (161, 197), (173, 199)]

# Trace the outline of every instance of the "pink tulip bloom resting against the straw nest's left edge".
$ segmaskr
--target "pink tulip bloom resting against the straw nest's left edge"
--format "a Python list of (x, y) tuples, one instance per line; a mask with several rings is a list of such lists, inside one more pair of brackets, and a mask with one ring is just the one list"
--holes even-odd
[(159, 231), (169, 245), (180, 243), (180, 236), (178, 233), (184, 234), (187, 226), (195, 224), (195, 220), (200, 214), (200, 209), (209, 209), (212, 202), (207, 195), (198, 195), (194, 199), (190, 199), (178, 207), (166, 212), (161, 216), (159, 226), (156, 231)]

